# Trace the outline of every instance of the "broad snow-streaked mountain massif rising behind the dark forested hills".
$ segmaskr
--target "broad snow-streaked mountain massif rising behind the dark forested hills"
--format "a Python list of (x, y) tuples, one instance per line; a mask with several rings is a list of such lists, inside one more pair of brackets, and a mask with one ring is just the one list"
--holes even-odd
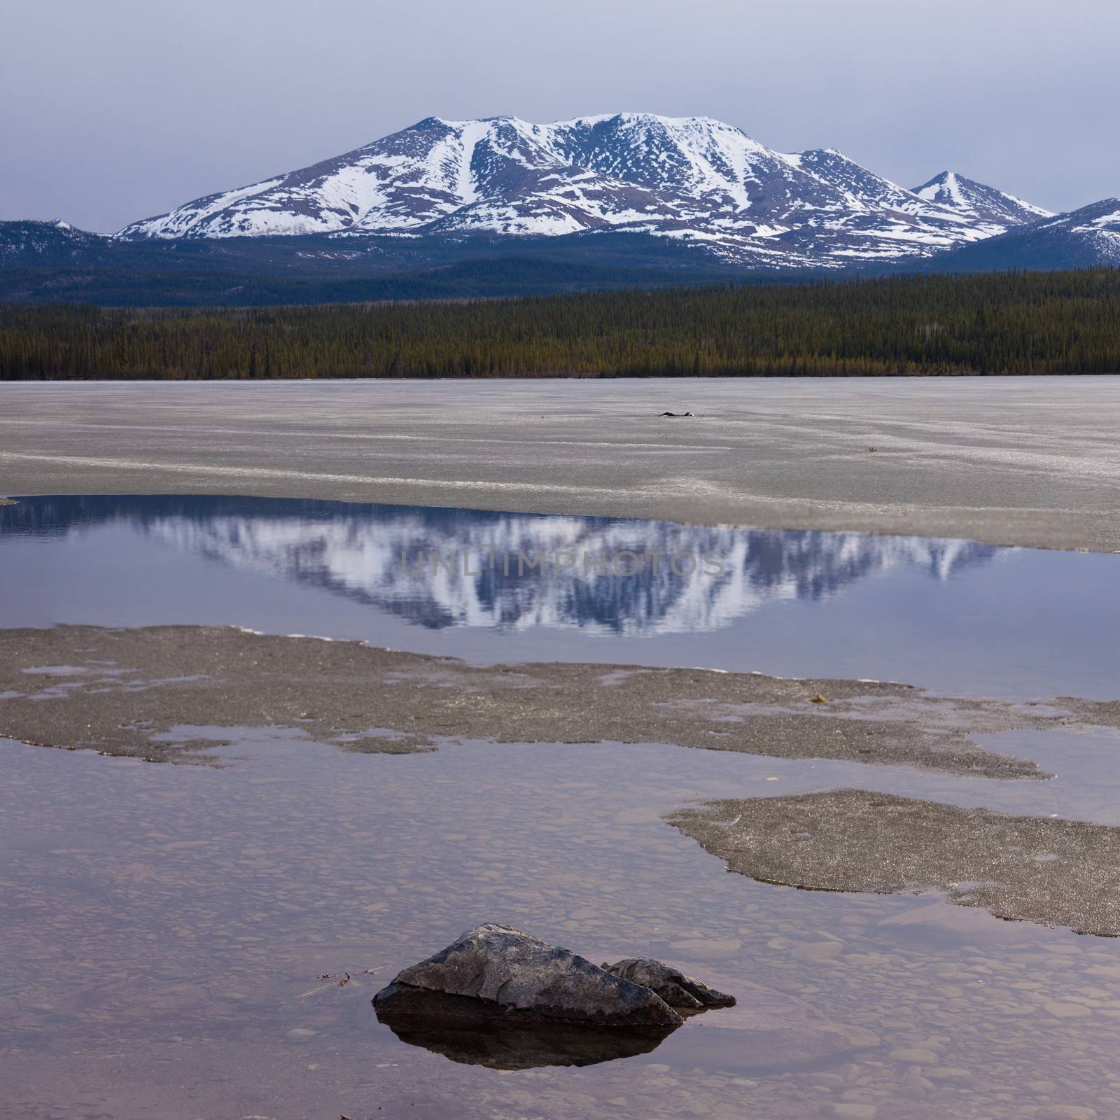
[(785, 155), (706, 116), (428, 118), (127, 226), (141, 239), (624, 231), (759, 268), (898, 261), (1047, 216), (952, 172), (907, 190), (833, 149)]

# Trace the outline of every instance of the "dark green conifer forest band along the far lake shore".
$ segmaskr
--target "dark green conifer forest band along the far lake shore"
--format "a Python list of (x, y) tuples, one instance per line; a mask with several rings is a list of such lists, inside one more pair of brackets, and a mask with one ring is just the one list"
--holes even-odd
[(1120, 371), (1120, 270), (244, 310), (0, 309), (0, 377)]

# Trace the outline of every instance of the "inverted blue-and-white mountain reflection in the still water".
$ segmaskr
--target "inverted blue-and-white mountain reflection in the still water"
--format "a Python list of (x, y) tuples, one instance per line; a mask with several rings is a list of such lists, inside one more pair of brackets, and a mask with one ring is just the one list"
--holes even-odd
[[(0, 507), (4, 536), (109, 524), (430, 629), (713, 631), (895, 568), (943, 581), (1004, 551), (930, 538), (281, 498), (74, 496)], [(528, 568), (533, 561), (540, 567)]]

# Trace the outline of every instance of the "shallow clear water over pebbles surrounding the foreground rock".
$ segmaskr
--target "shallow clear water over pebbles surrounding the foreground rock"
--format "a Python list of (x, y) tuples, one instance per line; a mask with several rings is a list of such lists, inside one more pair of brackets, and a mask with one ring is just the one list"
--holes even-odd
[[(213, 769), (0, 741), (6, 1116), (1120, 1111), (1117, 941), (757, 884), (660, 820), (692, 797), (837, 783), (971, 786), (979, 803), (1042, 783), (664, 746), (366, 756), (260, 731), (225, 754)], [(731, 992), (764, 984), (881, 1045), (790, 1068), (744, 1005), (646, 1054), (504, 1072), (377, 1024), (377, 988), (486, 920), (595, 961), (648, 952)], [(320, 979), (347, 971), (344, 988)]]

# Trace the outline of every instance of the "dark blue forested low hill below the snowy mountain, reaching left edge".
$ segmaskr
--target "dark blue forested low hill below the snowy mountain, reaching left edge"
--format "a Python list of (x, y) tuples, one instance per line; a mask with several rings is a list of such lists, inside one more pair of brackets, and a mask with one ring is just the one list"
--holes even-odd
[[(772, 274), (781, 279), (778, 274)], [(557, 239), (324, 235), (121, 241), (0, 222), (0, 302), (260, 307), (465, 299), (741, 279), (689, 245), (622, 233)]]

